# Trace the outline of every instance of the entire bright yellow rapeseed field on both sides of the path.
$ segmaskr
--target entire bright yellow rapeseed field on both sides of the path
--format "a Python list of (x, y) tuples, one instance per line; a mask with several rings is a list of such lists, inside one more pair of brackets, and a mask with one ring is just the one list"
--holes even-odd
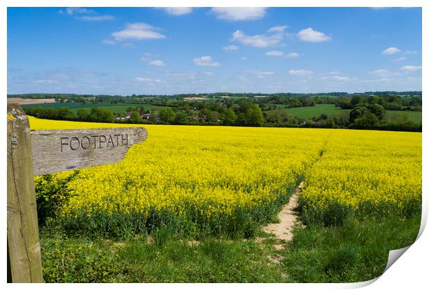
[[(32, 130), (113, 126), (139, 125), (30, 117)], [(246, 231), (267, 222), (303, 178), (300, 204), (312, 219), (331, 204), (389, 212), (421, 204), (421, 133), (145, 128), (147, 140), (122, 162), (84, 168), (69, 184), (76, 196), (59, 218), (67, 229), (142, 231), (175, 222), (190, 231)]]

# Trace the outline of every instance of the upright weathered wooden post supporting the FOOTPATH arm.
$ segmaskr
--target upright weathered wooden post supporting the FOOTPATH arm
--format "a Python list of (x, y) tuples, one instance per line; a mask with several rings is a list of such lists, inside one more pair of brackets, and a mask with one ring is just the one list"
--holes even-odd
[(8, 282), (43, 282), (28, 119), (8, 104)]

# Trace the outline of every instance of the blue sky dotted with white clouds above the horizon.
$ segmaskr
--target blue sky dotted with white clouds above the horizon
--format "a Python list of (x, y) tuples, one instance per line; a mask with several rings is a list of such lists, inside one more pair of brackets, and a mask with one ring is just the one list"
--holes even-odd
[(8, 8), (8, 93), (421, 90), (421, 8)]

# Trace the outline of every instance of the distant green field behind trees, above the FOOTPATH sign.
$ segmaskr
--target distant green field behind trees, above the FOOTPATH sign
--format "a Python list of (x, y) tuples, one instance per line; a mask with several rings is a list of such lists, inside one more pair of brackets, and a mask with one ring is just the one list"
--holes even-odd
[(43, 108), (61, 108), (61, 107), (69, 107), (73, 113), (77, 113), (80, 109), (91, 110), (93, 107), (97, 108), (105, 108), (107, 110), (111, 110), (113, 113), (124, 113), (127, 111), (127, 108), (144, 106), (146, 110), (152, 110), (154, 107), (158, 108), (170, 108), (169, 106), (153, 106), (149, 104), (130, 104), (130, 103), (120, 103), (120, 104), (109, 104), (109, 103), (98, 103), (98, 104), (79, 104), (79, 103), (53, 103), (53, 104), (32, 104), (32, 105), (22, 105), (23, 108), (31, 108), (31, 107), (43, 107)]

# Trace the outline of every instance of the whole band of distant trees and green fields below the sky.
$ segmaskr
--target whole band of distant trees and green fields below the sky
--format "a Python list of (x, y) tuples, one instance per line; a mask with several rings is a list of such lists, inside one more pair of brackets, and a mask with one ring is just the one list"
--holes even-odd
[(57, 102), (53, 104), (23, 105), (28, 115), (45, 119), (421, 131), (421, 92), (212, 93), (126, 97), (30, 94), (8, 97), (55, 97)]

